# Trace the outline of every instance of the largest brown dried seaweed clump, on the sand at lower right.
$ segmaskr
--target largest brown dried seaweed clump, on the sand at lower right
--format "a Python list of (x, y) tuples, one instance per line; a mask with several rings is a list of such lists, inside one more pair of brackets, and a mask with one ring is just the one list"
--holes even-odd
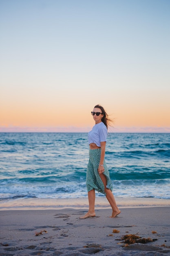
[(152, 238), (141, 238), (140, 236), (137, 236), (137, 234), (125, 235), (125, 236), (122, 236), (121, 239), (116, 239), (116, 240), (124, 240), (121, 243), (125, 243), (128, 245), (132, 245), (135, 243), (146, 244), (146, 243), (150, 243), (150, 242), (157, 240), (157, 239), (152, 239)]

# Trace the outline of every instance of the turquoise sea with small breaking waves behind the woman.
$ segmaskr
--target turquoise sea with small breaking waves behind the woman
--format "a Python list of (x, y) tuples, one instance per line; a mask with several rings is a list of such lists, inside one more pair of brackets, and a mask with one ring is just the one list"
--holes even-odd
[[(170, 199), (170, 133), (110, 133), (105, 159), (116, 197)], [(87, 197), (87, 163), (87, 133), (0, 133), (0, 200)]]

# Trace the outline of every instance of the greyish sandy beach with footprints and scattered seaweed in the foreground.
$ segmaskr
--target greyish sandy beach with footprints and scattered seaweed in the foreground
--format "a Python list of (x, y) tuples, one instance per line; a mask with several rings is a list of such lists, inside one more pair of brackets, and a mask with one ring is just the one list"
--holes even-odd
[[(80, 219), (86, 211), (0, 211), (0, 256), (170, 255), (170, 206), (122, 207), (116, 218), (98, 207), (96, 217)], [(140, 240), (128, 244), (131, 234)]]

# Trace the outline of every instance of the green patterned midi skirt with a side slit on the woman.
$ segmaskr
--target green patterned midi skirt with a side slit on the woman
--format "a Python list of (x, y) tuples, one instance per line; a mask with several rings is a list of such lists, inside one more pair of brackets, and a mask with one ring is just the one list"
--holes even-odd
[[(95, 189), (98, 192), (101, 192), (102, 194), (106, 195), (106, 193), (104, 192), (104, 184), (98, 173), (100, 155), (101, 155), (101, 148), (89, 149), (89, 161), (87, 165), (86, 186), (87, 186), (88, 192), (91, 191), (92, 189)], [(106, 166), (105, 160), (104, 160), (103, 174), (106, 176), (106, 180), (107, 180), (106, 188), (112, 191), (113, 184), (112, 184), (112, 181), (110, 180), (110, 175), (109, 175), (109, 171)]]

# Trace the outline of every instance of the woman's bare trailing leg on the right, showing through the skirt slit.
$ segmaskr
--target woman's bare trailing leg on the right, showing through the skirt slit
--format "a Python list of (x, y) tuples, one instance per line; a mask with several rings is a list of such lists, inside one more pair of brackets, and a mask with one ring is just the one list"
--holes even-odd
[(100, 174), (101, 180), (104, 184), (104, 191), (106, 193), (106, 198), (108, 200), (108, 202), (110, 203), (110, 206), (112, 207), (112, 216), (110, 216), (110, 218), (114, 218), (116, 217), (119, 213), (121, 213), (121, 211), (119, 210), (119, 208), (117, 207), (114, 195), (112, 193), (112, 191), (110, 189), (106, 188), (107, 185), (107, 180), (106, 180), (106, 176), (104, 174)]

